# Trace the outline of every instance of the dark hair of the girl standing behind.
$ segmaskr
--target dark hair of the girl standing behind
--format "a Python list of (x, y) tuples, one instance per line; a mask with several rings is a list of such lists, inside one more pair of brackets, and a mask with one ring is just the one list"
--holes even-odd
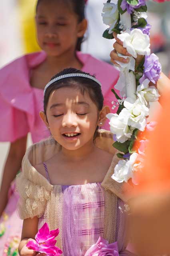
[[(36, 4), (36, 12), (38, 5), (40, 4), (42, 0), (38, 0)], [(78, 16), (78, 22), (81, 22), (85, 18), (85, 0), (62, 0), (67, 3), (72, 4), (73, 11), (75, 14)], [(77, 40), (77, 45), (76, 45), (76, 50), (80, 51), (81, 50), (81, 44), (84, 41), (84, 37), (78, 38)]]

